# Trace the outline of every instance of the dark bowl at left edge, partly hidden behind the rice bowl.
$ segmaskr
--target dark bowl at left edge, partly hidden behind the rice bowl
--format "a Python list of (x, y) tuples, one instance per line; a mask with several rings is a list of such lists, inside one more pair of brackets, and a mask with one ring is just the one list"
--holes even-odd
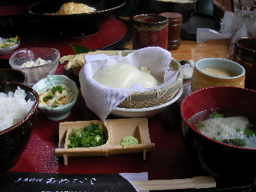
[(17, 82), (28, 84), (28, 76), (21, 70), (0, 69), (0, 82)]

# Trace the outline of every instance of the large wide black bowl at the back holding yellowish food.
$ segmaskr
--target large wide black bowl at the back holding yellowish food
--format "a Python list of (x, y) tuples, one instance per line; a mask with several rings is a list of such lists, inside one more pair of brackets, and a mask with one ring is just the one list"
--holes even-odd
[[(73, 15), (52, 15), (66, 2), (83, 3), (96, 8), (96, 11)], [(84, 36), (94, 34), (103, 22), (114, 18), (117, 11), (126, 5), (126, 0), (44, 0), (28, 7), (32, 17), (41, 21), (44, 28), (53, 33), (61, 32), (64, 36)]]

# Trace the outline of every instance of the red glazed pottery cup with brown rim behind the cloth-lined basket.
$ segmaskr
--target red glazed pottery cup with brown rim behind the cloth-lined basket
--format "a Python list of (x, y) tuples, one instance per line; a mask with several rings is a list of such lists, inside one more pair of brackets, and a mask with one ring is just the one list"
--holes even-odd
[(135, 15), (132, 20), (133, 49), (143, 47), (168, 47), (169, 19), (162, 15)]

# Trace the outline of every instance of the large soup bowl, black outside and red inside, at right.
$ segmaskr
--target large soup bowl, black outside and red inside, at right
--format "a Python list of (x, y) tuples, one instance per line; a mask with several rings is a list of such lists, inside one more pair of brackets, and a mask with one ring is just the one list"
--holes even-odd
[[(222, 178), (256, 177), (256, 147), (226, 145), (202, 135), (191, 125), (192, 116), (209, 109), (224, 109), (228, 116), (247, 116), (255, 124), (256, 91), (237, 87), (208, 87), (189, 94), (181, 105), (185, 147), (199, 160), (205, 171)], [(255, 142), (254, 139), (254, 146)]]

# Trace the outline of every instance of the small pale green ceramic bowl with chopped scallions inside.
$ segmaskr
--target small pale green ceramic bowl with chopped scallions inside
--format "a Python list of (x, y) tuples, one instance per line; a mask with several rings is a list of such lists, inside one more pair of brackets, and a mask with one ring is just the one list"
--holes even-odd
[(40, 109), (40, 111), (44, 113), (44, 116), (54, 121), (64, 119), (71, 113), (71, 109), (74, 107), (74, 104), (76, 103), (77, 97), (79, 95), (79, 89), (77, 88), (77, 84), (64, 75), (49, 75), (44, 79), (38, 81), (38, 83), (33, 86), (33, 89), (36, 90), (38, 92), (38, 95), (40, 96), (42, 89), (46, 89), (51, 86), (59, 86), (61, 84), (68, 86), (71, 89), (71, 92), (75, 94), (74, 99), (71, 103), (67, 103), (64, 106), (58, 106), (57, 108), (38, 106), (38, 109)]

